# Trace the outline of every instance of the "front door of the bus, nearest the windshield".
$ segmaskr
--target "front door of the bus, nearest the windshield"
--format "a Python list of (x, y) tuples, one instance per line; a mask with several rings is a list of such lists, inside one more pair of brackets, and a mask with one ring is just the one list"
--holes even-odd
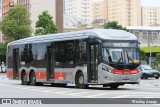
[(89, 44), (89, 69), (88, 69), (88, 78), (89, 82), (97, 83), (98, 82), (98, 45), (95, 43)]

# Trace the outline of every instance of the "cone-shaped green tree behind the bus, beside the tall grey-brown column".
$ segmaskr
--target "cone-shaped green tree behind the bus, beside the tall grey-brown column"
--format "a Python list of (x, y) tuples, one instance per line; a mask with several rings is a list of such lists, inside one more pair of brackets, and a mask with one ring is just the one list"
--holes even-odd
[(57, 33), (57, 28), (53, 22), (53, 17), (48, 13), (48, 11), (43, 11), (42, 14), (38, 16), (36, 28), (35, 35)]

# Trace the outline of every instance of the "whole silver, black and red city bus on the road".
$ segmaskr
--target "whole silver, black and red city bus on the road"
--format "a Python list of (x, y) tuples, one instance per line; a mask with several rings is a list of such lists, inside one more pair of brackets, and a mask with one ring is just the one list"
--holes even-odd
[(95, 29), (34, 36), (8, 44), (7, 77), (22, 85), (118, 88), (138, 84), (139, 42), (132, 33)]

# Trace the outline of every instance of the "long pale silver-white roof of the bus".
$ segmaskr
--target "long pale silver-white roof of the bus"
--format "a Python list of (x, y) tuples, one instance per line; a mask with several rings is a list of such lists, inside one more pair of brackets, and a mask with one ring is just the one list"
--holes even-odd
[(94, 29), (94, 30), (85, 30), (85, 31), (77, 31), (77, 32), (32, 36), (32, 37), (13, 41), (8, 45), (76, 40), (76, 39), (86, 39), (88, 37), (98, 37), (104, 40), (137, 40), (137, 37), (134, 34), (123, 31), (123, 30)]

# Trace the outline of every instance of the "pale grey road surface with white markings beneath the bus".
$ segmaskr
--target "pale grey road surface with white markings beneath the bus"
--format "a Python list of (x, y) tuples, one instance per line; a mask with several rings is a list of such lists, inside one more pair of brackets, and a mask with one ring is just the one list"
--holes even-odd
[(21, 81), (9, 80), (0, 73), (0, 98), (160, 98), (160, 79), (141, 80), (140, 84), (124, 85), (116, 90), (102, 86), (76, 89), (73, 85), (21, 85)]

